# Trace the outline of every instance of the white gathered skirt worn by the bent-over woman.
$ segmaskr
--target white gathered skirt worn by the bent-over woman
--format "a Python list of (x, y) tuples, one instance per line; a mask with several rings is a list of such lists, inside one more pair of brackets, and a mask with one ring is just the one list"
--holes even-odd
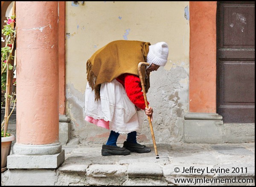
[(114, 79), (102, 83), (100, 99), (95, 101), (94, 90), (87, 83), (85, 90), (85, 115), (96, 120), (109, 121), (109, 129), (119, 133), (140, 132), (143, 124), (144, 110), (128, 98), (125, 88)]

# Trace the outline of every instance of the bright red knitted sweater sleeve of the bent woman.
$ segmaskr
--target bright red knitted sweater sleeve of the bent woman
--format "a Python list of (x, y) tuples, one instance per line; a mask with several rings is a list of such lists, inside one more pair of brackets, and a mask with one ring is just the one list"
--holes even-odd
[[(122, 74), (116, 80), (125, 87), (126, 94), (131, 102), (141, 108), (145, 109), (145, 101), (143, 97), (140, 78), (132, 74)], [(149, 103), (148, 103), (149, 104)]]

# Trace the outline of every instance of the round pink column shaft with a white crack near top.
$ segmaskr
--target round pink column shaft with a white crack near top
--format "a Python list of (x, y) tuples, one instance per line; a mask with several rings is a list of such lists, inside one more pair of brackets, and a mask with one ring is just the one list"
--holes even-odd
[(58, 1), (17, 1), (17, 144), (56, 144)]

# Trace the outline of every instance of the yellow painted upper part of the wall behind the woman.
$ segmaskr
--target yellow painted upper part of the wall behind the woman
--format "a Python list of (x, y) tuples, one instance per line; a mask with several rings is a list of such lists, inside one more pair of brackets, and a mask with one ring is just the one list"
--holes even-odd
[[(80, 92), (86, 85), (86, 61), (113, 40), (165, 41), (169, 61), (165, 69), (189, 62), (189, 21), (185, 2), (85, 1), (66, 3), (66, 82)], [(129, 30), (128, 30), (129, 29)], [(182, 64), (183, 63), (183, 64)]]

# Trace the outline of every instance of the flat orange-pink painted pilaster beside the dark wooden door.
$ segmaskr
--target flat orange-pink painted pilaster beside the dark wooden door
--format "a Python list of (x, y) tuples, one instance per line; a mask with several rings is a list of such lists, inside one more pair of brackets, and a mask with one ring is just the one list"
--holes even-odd
[(216, 113), (216, 1), (190, 1), (189, 112)]

